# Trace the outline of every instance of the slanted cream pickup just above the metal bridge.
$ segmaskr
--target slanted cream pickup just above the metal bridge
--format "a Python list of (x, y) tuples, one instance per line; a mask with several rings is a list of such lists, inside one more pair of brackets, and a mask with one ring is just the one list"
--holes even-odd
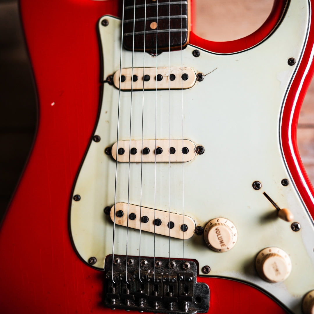
[[(110, 218), (113, 221), (115, 208), (112, 206)], [(116, 203), (116, 224), (130, 228), (140, 229), (163, 236), (171, 236), (177, 239), (189, 239), (194, 234), (195, 222), (186, 215), (174, 214), (153, 208), (141, 207), (127, 203)]]

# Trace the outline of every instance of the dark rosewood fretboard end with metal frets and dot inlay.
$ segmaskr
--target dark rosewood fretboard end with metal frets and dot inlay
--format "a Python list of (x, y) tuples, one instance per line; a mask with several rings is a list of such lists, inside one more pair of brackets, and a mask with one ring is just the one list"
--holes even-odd
[(145, 0), (125, 0), (124, 48), (133, 49), (133, 25), (136, 51), (155, 52), (156, 44), (160, 51), (167, 51), (169, 47), (170, 50), (176, 50), (186, 46), (189, 39), (188, 2), (189, 0), (146, 0), (145, 5)]

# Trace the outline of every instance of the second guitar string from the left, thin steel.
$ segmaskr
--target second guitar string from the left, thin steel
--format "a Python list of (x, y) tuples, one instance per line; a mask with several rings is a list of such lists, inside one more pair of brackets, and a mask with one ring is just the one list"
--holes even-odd
[(131, 73), (131, 104), (130, 104), (130, 138), (129, 138), (129, 170), (128, 170), (128, 182), (127, 182), (127, 249), (126, 249), (126, 267), (125, 267), (125, 279), (127, 284), (127, 253), (128, 253), (128, 240), (129, 240), (129, 207), (130, 207), (130, 169), (131, 169), (131, 133), (132, 133), (132, 105), (133, 105), (133, 65), (134, 65), (134, 32), (135, 32), (135, 6), (136, 0), (134, 0), (133, 9), (133, 43), (132, 43), (132, 73)]

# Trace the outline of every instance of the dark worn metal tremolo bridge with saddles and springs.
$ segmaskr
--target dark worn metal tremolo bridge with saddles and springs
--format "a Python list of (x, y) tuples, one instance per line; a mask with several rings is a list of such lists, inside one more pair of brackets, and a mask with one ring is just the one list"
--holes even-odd
[(105, 275), (105, 305), (111, 309), (180, 314), (209, 309), (208, 285), (196, 281), (191, 260), (115, 255), (112, 263), (109, 255)]

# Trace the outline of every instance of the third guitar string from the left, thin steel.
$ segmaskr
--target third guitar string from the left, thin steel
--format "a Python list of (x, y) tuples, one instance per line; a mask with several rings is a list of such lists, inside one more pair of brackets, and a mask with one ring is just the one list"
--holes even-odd
[(146, 44), (146, 0), (145, 0), (145, 11), (144, 11), (144, 52), (143, 52), (143, 101), (142, 101), (142, 150), (141, 150), (141, 192), (140, 192), (140, 211), (139, 211), (139, 252), (138, 252), (138, 278), (141, 279), (141, 233), (142, 233), (142, 182), (143, 182), (143, 125), (144, 125), (144, 77), (145, 77), (145, 44)]

